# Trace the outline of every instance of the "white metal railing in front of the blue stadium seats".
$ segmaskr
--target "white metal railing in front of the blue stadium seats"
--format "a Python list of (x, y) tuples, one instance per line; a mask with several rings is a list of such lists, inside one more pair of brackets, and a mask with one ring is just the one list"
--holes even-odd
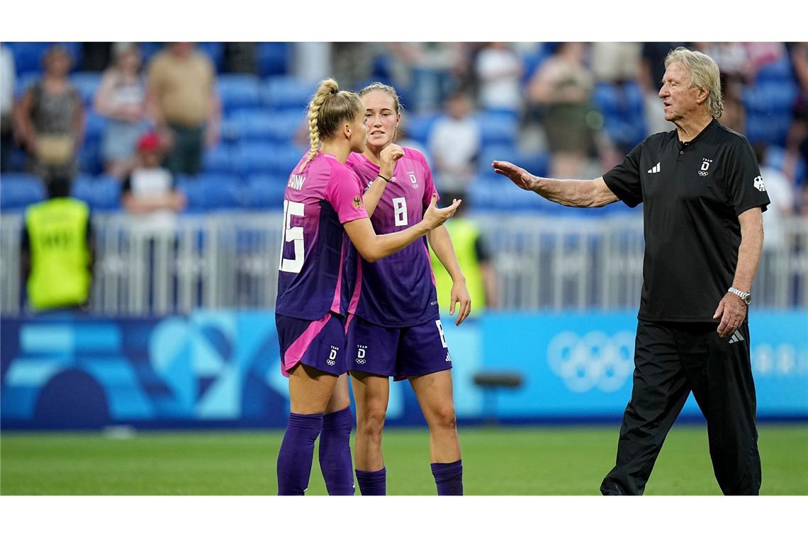
[[(642, 287), (642, 216), (569, 219), (475, 217), (492, 254), (500, 306), (511, 310), (634, 309)], [(127, 215), (94, 215), (90, 310), (168, 315), (196, 308), (271, 309), (277, 288), (280, 212), (187, 216), (144, 231)], [(755, 278), (756, 307), (808, 307), (808, 219), (783, 226)], [(21, 215), (0, 215), (0, 311), (25, 311)]]

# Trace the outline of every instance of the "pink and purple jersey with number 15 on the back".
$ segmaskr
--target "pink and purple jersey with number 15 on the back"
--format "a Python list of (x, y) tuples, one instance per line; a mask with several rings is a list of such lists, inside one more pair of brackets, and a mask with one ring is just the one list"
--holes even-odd
[(275, 311), (298, 319), (340, 312), (343, 223), (367, 219), (356, 173), (327, 153), (289, 174)]

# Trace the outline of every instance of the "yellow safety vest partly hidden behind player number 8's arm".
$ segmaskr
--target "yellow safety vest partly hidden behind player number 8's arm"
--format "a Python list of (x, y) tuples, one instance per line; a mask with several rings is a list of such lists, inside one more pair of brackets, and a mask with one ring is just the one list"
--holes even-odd
[[(480, 229), (477, 224), (469, 219), (449, 219), (446, 224), (449, 235), (452, 236), (452, 244), (457, 253), (457, 261), (465, 275), (465, 286), (469, 289), (471, 296), (472, 315), (482, 314), (486, 308), (486, 289), (482, 282), (482, 270), (480, 261), (477, 258), (477, 249), (474, 244), (480, 236)], [(435, 273), (435, 287), (438, 291), (438, 305), (440, 311), (448, 313), (449, 299), (452, 294), (452, 277), (449, 276), (444, 265), (438, 260), (435, 252), (430, 250), (429, 255), (432, 262), (432, 271)], [(457, 307), (455, 312), (457, 313)]]

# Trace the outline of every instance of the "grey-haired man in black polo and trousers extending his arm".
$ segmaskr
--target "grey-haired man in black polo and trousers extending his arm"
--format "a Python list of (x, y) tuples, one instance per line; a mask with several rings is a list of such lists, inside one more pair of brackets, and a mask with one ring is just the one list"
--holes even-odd
[(746, 138), (718, 123), (718, 65), (676, 48), (659, 98), (674, 131), (643, 140), (592, 181), (536, 177), (494, 161), (524, 190), (565, 206), (643, 202), (646, 252), (631, 401), (603, 494), (642, 494), (692, 391), (724, 494), (758, 494), (760, 455), (747, 307), (769, 203)]

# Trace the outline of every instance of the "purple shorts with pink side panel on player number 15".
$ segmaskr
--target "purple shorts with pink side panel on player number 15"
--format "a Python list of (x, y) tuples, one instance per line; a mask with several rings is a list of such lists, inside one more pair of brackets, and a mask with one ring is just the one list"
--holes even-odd
[(321, 319), (275, 315), (280, 344), (280, 370), (289, 377), (297, 363), (335, 376), (347, 372), (345, 325), (342, 316), (328, 312)]

